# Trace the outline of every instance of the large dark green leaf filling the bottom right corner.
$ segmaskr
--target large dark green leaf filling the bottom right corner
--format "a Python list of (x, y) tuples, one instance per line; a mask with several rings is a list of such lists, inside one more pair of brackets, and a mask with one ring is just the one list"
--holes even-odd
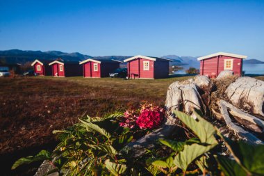
[(236, 161), (254, 175), (264, 175), (264, 145), (250, 145), (242, 141), (233, 142), (224, 138)]

